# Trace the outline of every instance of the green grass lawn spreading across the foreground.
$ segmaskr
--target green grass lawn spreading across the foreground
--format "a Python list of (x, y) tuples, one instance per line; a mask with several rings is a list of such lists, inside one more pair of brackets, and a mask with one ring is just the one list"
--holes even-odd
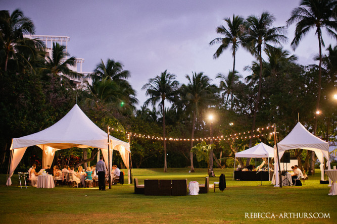
[[(139, 184), (144, 179), (184, 178), (204, 183), (207, 176), (206, 169), (168, 171), (134, 169), (133, 175)], [(329, 187), (319, 184), (319, 170), (306, 185), (283, 188), (267, 181), (262, 186), (259, 181), (232, 181), (232, 169), (215, 169), (216, 178), (210, 178), (210, 184), (221, 173), (227, 183), (223, 192), (216, 189), (214, 193), (211, 188), (208, 194), (197, 196), (135, 195), (133, 184), (118, 184), (107, 191), (68, 186), (20, 189), (17, 175), (12, 177), (11, 187), (4, 185), (6, 175), (0, 175), (0, 223), (336, 223), (337, 196), (328, 196)], [(274, 214), (275, 218), (247, 218), (246, 213), (251, 212), (270, 212), (267, 216)], [(303, 212), (322, 212), (329, 218), (291, 218), (291, 212), (300, 213), (299, 217)]]

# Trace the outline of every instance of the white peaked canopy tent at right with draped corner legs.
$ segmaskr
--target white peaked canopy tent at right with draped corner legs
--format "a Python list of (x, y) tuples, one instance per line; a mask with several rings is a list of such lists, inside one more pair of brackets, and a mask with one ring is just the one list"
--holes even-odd
[[(324, 180), (324, 157), (328, 161), (328, 169), (330, 169), (329, 161), (329, 144), (320, 138), (311, 134), (300, 122), (294, 127), (294, 129), (279, 143), (277, 143), (278, 154), (281, 158), (284, 151), (289, 149), (306, 149), (316, 153), (318, 160), (320, 161), (321, 180)], [(276, 153), (276, 145), (274, 145), (275, 163), (274, 171), (278, 174), (278, 159)], [(275, 175), (276, 186), (279, 186), (279, 176)]]

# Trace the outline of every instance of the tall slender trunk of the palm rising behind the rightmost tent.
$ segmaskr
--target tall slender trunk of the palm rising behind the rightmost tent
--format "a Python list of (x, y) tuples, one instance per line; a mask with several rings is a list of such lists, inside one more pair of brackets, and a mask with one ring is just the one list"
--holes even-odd
[[(321, 46), (321, 30), (318, 28), (318, 45), (319, 45), (319, 69), (318, 69), (318, 91), (317, 91), (317, 101), (316, 101), (316, 111), (319, 110), (319, 100), (321, 98), (321, 82), (322, 82), (322, 46)], [(316, 114), (315, 124), (314, 124), (314, 135), (317, 133), (317, 122), (318, 115)], [(311, 152), (310, 160), (310, 170), (308, 174), (315, 175), (315, 152)]]

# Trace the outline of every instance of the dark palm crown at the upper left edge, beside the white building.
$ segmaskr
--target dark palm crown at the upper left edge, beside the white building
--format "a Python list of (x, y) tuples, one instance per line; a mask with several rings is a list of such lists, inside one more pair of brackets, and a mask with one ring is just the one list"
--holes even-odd
[(24, 17), (23, 13), (16, 9), (12, 15), (6, 10), (0, 11), (0, 38), (1, 51), (4, 51), (5, 66), (4, 71), (7, 71), (8, 60), (14, 56), (16, 48), (19, 45), (25, 45), (24, 34), (34, 34), (35, 27), (33, 22)]

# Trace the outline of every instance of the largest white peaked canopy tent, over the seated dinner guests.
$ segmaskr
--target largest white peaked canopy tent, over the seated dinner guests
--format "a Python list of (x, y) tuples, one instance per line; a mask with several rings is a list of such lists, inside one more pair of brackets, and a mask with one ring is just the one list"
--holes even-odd
[[(130, 144), (112, 136), (109, 144), (110, 155), (112, 150), (118, 150), (129, 170)], [(27, 147), (33, 145), (42, 149), (43, 167), (52, 165), (55, 151), (71, 147), (99, 148), (108, 163), (108, 134), (95, 125), (77, 104), (53, 126), (31, 135), (12, 139), (9, 178), (6, 183), (8, 186), (12, 184), (11, 177)], [(110, 156), (110, 164), (112, 164), (112, 156)], [(111, 167), (109, 170), (111, 171)]]

